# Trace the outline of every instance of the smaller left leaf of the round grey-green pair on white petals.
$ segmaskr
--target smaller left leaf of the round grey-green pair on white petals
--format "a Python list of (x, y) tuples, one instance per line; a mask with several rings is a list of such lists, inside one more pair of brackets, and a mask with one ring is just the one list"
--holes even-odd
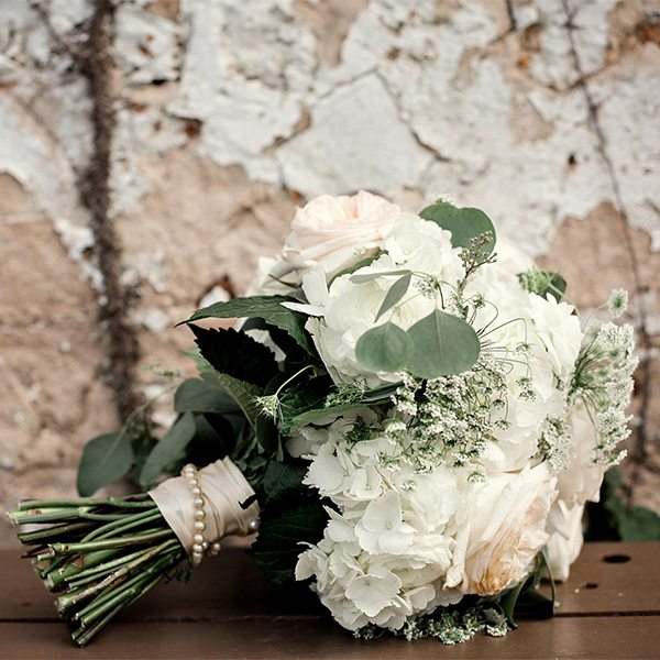
[(355, 358), (373, 372), (397, 372), (413, 356), (413, 340), (398, 326), (387, 321), (367, 330), (355, 344)]

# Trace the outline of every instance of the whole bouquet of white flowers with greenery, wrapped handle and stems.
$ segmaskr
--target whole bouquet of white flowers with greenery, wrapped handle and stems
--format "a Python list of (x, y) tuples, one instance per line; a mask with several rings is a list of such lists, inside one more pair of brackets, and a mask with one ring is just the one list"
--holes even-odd
[[(540, 580), (580, 552), (636, 366), (632, 328), (581, 324), (564, 288), (477, 209), (414, 215), (363, 191), (299, 209), (249, 296), (186, 321), (201, 377), (173, 428), (146, 451), (131, 425), (92, 440), (79, 486), (102, 485), (100, 454), (121, 457), (112, 479), (182, 476), (11, 514), (48, 525), (20, 537), (76, 641), (257, 518), (266, 575), (309, 581), (362, 637), (453, 644), (551, 615)], [(614, 292), (609, 316), (625, 306)], [(243, 320), (195, 324), (209, 318)]]

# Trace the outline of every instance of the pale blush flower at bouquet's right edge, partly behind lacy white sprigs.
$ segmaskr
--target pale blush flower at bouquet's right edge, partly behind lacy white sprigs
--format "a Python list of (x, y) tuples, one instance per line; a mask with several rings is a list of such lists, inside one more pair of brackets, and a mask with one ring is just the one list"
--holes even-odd
[(597, 442), (596, 429), (584, 404), (578, 403), (569, 415), (570, 459), (558, 475), (559, 497), (566, 505), (598, 502), (605, 468), (591, 462)]

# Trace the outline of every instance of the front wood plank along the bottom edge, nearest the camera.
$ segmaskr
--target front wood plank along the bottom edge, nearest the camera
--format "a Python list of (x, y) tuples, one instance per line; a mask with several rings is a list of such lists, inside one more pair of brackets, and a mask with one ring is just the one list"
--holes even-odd
[(53, 624), (0, 624), (7, 660), (187, 660), (268, 658), (295, 660), (462, 660), (562, 658), (592, 660), (657, 659), (660, 617), (565, 617), (527, 622), (505, 638), (484, 635), (447, 647), (433, 640), (399, 639), (359, 641), (326, 618), (237, 618), (233, 622), (145, 623), (124, 622), (106, 631), (85, 651), (76, 651), (64, 627)]

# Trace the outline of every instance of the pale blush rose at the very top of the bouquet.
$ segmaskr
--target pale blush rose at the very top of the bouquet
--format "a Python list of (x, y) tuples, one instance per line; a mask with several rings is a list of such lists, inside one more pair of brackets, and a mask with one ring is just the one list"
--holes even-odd
[(400, 215), (400, 207), (364, 190), (353, 197), (322, 195), (296, 211), (285, 260), (305, 270), (319, 264), (332, 277), (375, 254)]

